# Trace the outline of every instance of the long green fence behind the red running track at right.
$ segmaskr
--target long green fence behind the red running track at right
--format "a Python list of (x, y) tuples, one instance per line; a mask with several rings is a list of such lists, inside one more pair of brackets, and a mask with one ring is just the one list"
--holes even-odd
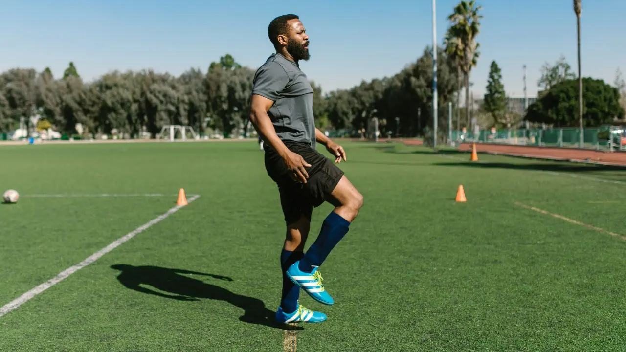
[[(583, 129), (583, 148), (626, 150), (626, 127), (601, 126)], [(521, 128), (511, 130), (453, 131), (454, 142), (500, 143), (535, 147), (579, 148), (579, 128)]]

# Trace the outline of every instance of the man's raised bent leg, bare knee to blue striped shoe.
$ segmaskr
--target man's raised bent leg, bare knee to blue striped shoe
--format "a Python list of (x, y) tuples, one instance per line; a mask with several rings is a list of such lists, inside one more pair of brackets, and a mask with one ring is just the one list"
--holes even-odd
[(324, 289), (317, 268), (348, 232), (350, 224), (361, 210), (363, 196), (343, 175), (327, 201), (334, 205), (335, 209), (324, 219), (319, 236), (304, 257), (289, 267), (287, 276), (312, 298), (324, 304), (333, 304), (334, 300)]

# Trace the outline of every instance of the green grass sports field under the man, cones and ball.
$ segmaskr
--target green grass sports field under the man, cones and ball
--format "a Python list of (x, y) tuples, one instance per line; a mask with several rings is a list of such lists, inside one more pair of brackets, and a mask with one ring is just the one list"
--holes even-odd
[[(365, 205), (321, 269), (336, 303), (302, 293), (329, 320), (287, 333), (272, 322), (284, 223), (255, 142), (0, 147), (0, 189), (21, 194), (0, 206), (0, 306), (166, 213), (181, 187), (200, 195), (0, 316), (0, 350), (626, 345), (626, 241), (603, 232), (626, 235), (626, 169), (344, 147)], [(314, 212), (312, 239), (331, 209)]]

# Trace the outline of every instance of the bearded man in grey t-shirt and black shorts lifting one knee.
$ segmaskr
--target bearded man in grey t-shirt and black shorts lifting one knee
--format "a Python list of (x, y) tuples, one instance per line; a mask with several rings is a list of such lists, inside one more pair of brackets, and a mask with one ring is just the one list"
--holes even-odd
[[(300, 60), (309, 60), (309, 36), (302, 22), (295, 14), (279, 16), (270, 22), (268, 34), (276, 53), (255, 73), (250, 121), (265, 141), (265, 170), (278, 186), (287, 225), (276, 320), (321, 323), (326, 314), (301, 306), (299, 289), (321, 303), (334, 303), (318, 268), (348, 232), (363, 196), (337, 165), (316, 150), (316, 142), (322, 143), (335, 163), (346, 161), (344, 148), (315, 127), (313, 90), (299, 66)], [(324, 201), (335, 208), (304, 254), (313, 208)]]

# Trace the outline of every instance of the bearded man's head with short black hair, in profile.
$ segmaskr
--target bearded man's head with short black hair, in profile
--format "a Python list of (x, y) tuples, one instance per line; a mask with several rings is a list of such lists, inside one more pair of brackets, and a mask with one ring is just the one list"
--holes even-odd
[(297, 15), (284, 14), (272, 19), (267, 32), (277, 51), (287, 50), (296, 61), (309, 60), (309, 36)]

